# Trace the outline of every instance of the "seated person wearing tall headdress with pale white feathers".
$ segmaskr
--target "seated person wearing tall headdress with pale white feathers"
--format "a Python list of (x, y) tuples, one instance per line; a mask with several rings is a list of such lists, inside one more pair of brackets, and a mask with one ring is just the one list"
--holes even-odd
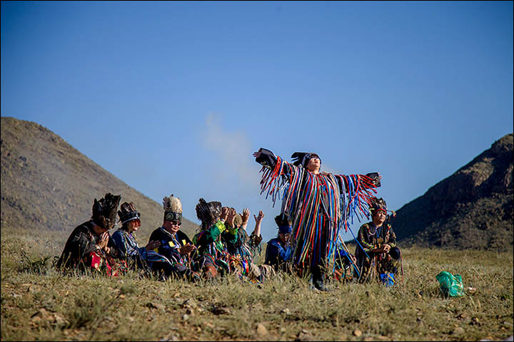
[(178, 197), (163, 197), (163, 225), (150, 235), (148, 244), (155, 243), (154, 252), (163, 255), (180, 273), (195, 279), (197, 274), (189, 266), (189, 254), (196, 249), (186, 233), (181, 232), (182, 202)]

